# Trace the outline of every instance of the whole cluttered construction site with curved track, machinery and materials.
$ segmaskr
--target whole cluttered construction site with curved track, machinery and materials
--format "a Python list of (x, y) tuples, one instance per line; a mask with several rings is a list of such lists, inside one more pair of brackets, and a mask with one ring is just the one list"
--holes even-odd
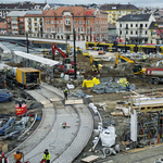
[(0, 150), (10, 162), (41, 162), (46, 149), (55, 163), (163, 162), (161, 53), (7, 49)]

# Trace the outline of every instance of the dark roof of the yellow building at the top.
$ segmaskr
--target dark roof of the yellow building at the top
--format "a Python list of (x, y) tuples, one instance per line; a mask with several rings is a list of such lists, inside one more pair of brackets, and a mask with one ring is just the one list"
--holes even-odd
[(103, 4), (100, 7), (101, 10), (139, 10), (134, 4)]

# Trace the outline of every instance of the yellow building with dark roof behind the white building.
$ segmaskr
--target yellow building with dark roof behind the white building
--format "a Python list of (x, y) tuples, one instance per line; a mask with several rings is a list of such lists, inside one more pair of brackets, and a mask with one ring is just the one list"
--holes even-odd
[(127, 14), (140, 14), (141, 11), (134, 4), (102, 4), (101, 10), (108, 12), (108, 23), (116, 25), (116, 20)]

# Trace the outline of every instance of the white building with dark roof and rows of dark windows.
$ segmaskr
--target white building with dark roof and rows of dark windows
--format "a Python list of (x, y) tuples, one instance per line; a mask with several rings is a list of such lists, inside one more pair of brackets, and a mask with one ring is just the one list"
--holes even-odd
[(129, 14), (116, 21), (116, 33), (122, 42), (149, 43), (148, 29), (155, 18), (152, 14)]

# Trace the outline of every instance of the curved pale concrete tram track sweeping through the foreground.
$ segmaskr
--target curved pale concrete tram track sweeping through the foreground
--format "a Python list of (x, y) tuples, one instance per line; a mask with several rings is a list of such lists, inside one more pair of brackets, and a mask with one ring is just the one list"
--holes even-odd
[[(66, 162), (72, 162), (79, 154), (79, 152), (83, 150), (85, 145), (88, 142), (92, 130), (88, 131), (90, 134), (87, 140), (84, 141), (83, 146), (80, 146), (82, 149), (79, 148), (79, 150), (75, 151), (76, 154), (73, 153), (73, 154), (70, 154), (70, 156), (65, 156), (65, 153), (70, 153), (67, 152), (67, 150), (70, 150), (73, 147), (73, 142), (75, 142), (75, 146), (76, 146), (76, 139), (78, 137), (78, 133), (80, 133), (82, 130), (80, 127), (83, 127), (82, 117), (84, 116), (80, 116), (82, 112), (76, 105), (65, 106), (62, 101), (63, 93), (54, 87), (52, 90), (51, 88), (52, 88), (51, 86), (48, 86), (47, 88), (41, 86), (40, 89), (26, 91), (37, 101), (39, 101), (38, 100), (39, 98), (38, 95), (39, 95), (41, 96), (41, 100), (47, 100), (49, 101), (48, 103), (51, 103), (55, 106), (42, 109), (41, 123), (39, 124), (37, 129), (23, 143), (21, 143), (18, 147), (16, 147), (14, 150), (12, 150), (8, 154), (10, 162), (13, 161), (12, 159), (13, 153), (16, 150), (24, 152), (25, 161), (30, 161), (30, 163), (39, 162), (40, 159), (42, 158), (43, 150), (47, 148), (49, 149), (51, 153), (51, 162), (65, 162), (65, 159), (66, 159)], [(51, 100), (51, 99), (57, 99), (57, 98), (60, 99), (60, 101), (53, 102)], [(54, 115), (51, 114), (52, 111)], [(43, 125), (47, 117), (50, 118), (47, 115), (47, 112), (50, 112), (50, 115), (49, 115), (50, 117), (51, 116), (54, 117), (54, 118), (51, 118), (52, 122), (49, 122), (50, 125), (48, 126)], [(66, 121), (67, 125), (71, 126), (71, 128), (66, 128), (66, 129), (62, 128), (62, 122), (64, 120)], [(88, 127), (88, 128), (92, 129), (92, 126), (93, 125), (91, 124), (91, 127)]]

